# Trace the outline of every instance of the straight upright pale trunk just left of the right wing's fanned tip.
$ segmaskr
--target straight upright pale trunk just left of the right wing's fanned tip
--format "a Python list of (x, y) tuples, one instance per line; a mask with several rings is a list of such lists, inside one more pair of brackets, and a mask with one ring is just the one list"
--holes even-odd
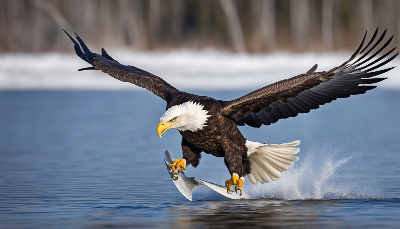
[(322, 2), (322, 49), (332, 50), (333, 48), (333, 0)]

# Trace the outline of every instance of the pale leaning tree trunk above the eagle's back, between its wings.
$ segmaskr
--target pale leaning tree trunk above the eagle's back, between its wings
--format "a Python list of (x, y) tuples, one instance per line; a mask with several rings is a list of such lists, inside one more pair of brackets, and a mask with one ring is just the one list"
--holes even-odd
[(229, 31), (235, 50), (238, 52), (246, 52), (246, 43), (244, 42), (242, 26), (234, 3), (231, 0), (220, 0), (220, 4), (224, 10), (226, 20), (228, 21)]

